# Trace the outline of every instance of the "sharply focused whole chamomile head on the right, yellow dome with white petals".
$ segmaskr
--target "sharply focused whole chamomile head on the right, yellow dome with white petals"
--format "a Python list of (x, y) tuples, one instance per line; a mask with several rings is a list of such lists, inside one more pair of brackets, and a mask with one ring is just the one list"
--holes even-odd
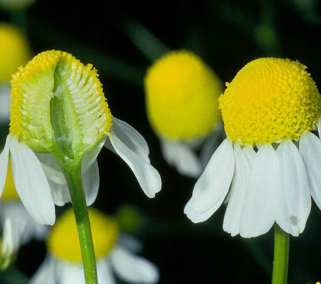
[(321, 98), (306, 66), (256, 59), (227, 84), (219, 104), (227, 138), (184, 212), (202, 222), (226, 199), (223, 229), (232, 236), (259, 236), (274, 221), (298, 236), (310, 213), (310, 195), (321, 208), (321, 141), (310, 132), (317, 124), (320, 136)]

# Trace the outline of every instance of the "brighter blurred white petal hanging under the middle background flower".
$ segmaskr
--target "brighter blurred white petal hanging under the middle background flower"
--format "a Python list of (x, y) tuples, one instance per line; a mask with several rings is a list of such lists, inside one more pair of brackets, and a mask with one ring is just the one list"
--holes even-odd
[(194, 178), (200, 176), (203, 165), (190, 146), (165, 139), (161, 139), (160, 146), (165, 161), (180, 174)]

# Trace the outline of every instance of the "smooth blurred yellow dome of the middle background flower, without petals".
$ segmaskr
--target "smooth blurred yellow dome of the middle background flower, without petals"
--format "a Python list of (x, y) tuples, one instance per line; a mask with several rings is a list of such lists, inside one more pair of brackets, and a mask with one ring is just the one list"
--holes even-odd
[(160, 136), (204, 137), (221, 119), (217, 109), (221, 81), (192, 52), (163, 56), (147, 70), (144, 84), (147, 115)]

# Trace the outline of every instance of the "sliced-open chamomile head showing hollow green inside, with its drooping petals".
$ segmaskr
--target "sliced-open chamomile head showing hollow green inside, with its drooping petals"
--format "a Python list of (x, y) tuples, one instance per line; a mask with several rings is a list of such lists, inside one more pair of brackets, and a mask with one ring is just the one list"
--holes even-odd
[(84, 66), (71, 54), (55, 50), (38, 54), (12, 76), (10, 133), (0, 154), (0, 191), (10, 152), (17, 193), (40, 224), (55, 222), (54, 203), (71, 201), (65, 179), (70, 165), (81, 163), (87, 205), (95, 200), (96, 157), (104, 143), (130, 166), (147, 196), (160, 190), (146, 141), (126, 122), (112, 117), (97, 77), (91, 64)]

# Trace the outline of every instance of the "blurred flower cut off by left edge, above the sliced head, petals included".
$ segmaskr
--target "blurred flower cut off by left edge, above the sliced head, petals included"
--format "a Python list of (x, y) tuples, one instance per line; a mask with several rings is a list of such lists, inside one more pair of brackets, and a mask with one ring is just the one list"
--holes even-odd
[(17, 68), (30, 59), (27, 38), (15, 26), (0, 23), (0, 121), (7, 123), (10, 117), (10, 78)]

